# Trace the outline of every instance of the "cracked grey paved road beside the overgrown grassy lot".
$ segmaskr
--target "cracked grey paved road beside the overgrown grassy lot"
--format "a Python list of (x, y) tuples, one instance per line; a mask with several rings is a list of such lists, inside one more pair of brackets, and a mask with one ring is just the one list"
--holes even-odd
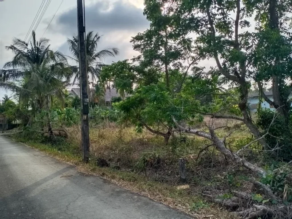
[(0, 136), (0, 219), (16, 218), (190, 219)]

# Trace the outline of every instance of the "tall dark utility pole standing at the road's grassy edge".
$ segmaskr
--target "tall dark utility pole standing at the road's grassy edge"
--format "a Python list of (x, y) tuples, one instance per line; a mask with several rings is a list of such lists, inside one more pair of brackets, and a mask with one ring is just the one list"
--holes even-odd
[(86, 69), (86, 46), (85, 46), (85, 4), (82, 0), (77, 0), (77, 22), (79, 41), (79, 74), (80, 74), (80, 98), (81, 98), (81, 144), (82, 159), (85, 163), (89, 160), (89, 99)]

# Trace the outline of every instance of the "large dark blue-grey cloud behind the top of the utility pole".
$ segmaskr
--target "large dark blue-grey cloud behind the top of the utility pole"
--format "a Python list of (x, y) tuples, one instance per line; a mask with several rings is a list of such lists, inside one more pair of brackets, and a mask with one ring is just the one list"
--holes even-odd
[[(85, 8), (86, 30), (98, 31), (106, 34), (113, 31), (143, 31), (149, 27), (149, 22), (143, 15), (141, 8), (130, 2), (98, 1)], [(66, 36), (77, 32), (77, 11), (72, 8), (56, 19), (50, 28), (53, 32), (60, 32)]]

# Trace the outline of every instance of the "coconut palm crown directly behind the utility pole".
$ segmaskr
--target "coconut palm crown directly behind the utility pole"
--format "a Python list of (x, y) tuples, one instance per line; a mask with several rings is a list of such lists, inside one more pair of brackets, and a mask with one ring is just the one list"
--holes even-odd
[[(100, 71), (105, 64), (102, 62), (106, 57), (115, 57), (119, 55), (118, 48), (105, 48), (98, 51), (98, 42), (100, 41), (100, 36), (98, 33), (94, 35), (93, 31), (88, 32), (86, 35), (86, 67), (88, 72), (88, 78), (94, 85), (97, 79), (100, 77)], [(69, 49), (72, 53), (72, 60), (79, 63), (79, 44), (78, 36), (73, 36), (72, 39), (67, 39)], [(73, 84), (79, 80), (79, 66), (75, 66), (75, 75)]]

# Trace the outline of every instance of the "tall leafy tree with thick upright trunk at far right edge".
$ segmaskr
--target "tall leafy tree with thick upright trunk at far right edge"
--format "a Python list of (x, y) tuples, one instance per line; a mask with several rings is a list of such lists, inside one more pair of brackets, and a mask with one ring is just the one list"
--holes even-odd
[[(253, 51), (254, 79), (264, 100), (274, 106), (290, 124), (292, 91), (291, 1), (250, 2), (257, 21)], [(263, 92), (263, 84), (272, 84), (273, 100)]]

